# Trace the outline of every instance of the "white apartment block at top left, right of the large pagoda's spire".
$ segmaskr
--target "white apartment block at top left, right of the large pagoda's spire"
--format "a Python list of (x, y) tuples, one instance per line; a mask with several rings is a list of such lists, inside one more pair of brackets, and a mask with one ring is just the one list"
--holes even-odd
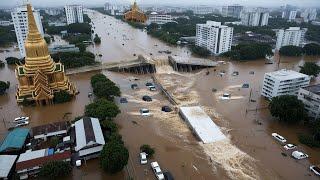
[(67, 24), (83, 23), (82, 5), (67, 5), (64, 9), (66, 11)]

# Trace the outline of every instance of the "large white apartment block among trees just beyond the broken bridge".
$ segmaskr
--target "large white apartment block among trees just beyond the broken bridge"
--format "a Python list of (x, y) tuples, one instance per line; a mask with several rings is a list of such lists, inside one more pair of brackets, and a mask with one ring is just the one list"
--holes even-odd
[(207, 21), (206, 24), (197, 24), (196, 46), (208, 49), (218, 55), (231, 49), (233, 27), (221, 25), (221, 22)]

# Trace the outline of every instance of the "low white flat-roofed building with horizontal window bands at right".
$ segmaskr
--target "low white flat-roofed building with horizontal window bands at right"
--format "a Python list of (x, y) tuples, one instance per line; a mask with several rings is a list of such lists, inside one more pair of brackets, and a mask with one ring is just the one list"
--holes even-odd
[(280, 95), (298, 95), (299, 88), (310, 83), (308, 75), (282, 69), (264, 74), (261, 95), (273, 98)]

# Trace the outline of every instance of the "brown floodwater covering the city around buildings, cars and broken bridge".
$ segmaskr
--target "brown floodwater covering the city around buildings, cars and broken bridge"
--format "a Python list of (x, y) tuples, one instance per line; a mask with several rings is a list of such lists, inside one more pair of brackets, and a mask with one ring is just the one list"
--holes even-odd
[[(102, 43), (88, 49), (102, 54), (102, 62), (133, 59), (134, 53), (163, 55), (158, 53), (159, 50), (170, 50), (173, 55), (190, 57), (186, 48), (168, 46), (142, 30), (134, 29), (112, 17), (99, 13), (90, 14), (90, 17), (95, 24), (95, 32), (102, 37)], [(17, 50), (9, 48), (9, 51), (0, 53), (0, 59), (18, 56)], [(279, 68), (298, 70), (304, 61), (319, 60), (319, 57), (286, 57), (281, 58)], [(308, 148), (297, 140), (297, 134), (306, 129), (298, 125), (288, 127), (278, 123), (265, 108), (268, 103), (260, 97), (264, 73), (276, 69), (277, 64), (265, 65), (263, 60), (257, 60), (227, 62), (209, 69), (209, 75), (205, 75), (206, 70), (192, 74), (172, 73), (167, 69), (160, 71), (162, 74), (157, 77), (182, 105), (201, 105), (230, 139), (230, 142), (212, 145), (199, 143), (176, 111), (160, 111), (161, 106), (170, 103), (160, 92), (150, 92), (145, 88), (145, 82), (151, 79), (149, 75), (103, 71), (119, 85), (122, 96), (129, 101), (127, 104), (119, 104), (121, 114), (115, 119), (129, 149), (128, 167), (111, 176), (99, 168), (98, 159), (89, 160), (80, 169), (74, 168), (73, 176), (67, 179), (126, 179), (128, 172), (134, 179), (155, 179), (149, 165), (139, 165), (138, 153), (142, 144), (155, 147), (156, 153), (152, 160), (158, 161), (162, 169), (170, 171), (176, 179), (316, 179), (308, 171), (308, 167), (310, 164), (319, 164), (319, 149)], [(222, 77), (218, 75), (220, 70), (226, 71)], [(163, 73), (166, 71), (172, 74)], [(232, 76), (233, 71), (239, 71), (239, 76)], [(249, 74), (249, 71), (254, 71), (254, 75)], [(72, 120), (82, 115), (84, 106), (92, 101), (87, 94), (91, 91), (90, 77), (95, 73), (97, 72), (69, 76), (80, 91), (71, 102), (45, 107), (21, 107), (16, 104), (14, 97), (17, 84), (14, 67), (6, 65), (0, 69), (0, 80), (10, 81), (11, 86), (6, 95), (0, 96), (0, 136), (4, 137), (17, 116), (30, 116), (31, 123), (28, 127), (32, 127)], [(132, 76), (140, 78), (135, 82), (141, 87), (139, 90), (130, 89)], [(317, 82), (318, 79), (312, 83)], [(243, 83), (250, 84), (251, 99), (256, 102), (249, 102), (250, 89), (242, 89)], [(217, 92), (213, 93), (212, 88), (217, 89)], [(231, 93), (232, 99), (219, 99), (223, 92)], [(143, 95), (150, 95), (153, 101), (142, 101)], [(143, 107), (149, 108), (153, 115), (142, 118), (139, 109)], [(259, 110), (256, 111), (256, 108)], [(261, 122), (261, 125), (256, 121)], [(297, 161), (290, 156), (282, 156), (281, 152), (285, 151), (271, 138), (272, 132), (278, 132), (291, 143), (297, 144), (310, 158)]]

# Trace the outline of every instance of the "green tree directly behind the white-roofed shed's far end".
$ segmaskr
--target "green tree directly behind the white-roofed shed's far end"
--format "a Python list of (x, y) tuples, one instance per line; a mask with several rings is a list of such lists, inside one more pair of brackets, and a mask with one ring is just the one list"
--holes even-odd
[(119, 107), (106, 99), (98, 99), (85, 106), (85, 115), (100, 120), (112, 119), (120, 113)]

